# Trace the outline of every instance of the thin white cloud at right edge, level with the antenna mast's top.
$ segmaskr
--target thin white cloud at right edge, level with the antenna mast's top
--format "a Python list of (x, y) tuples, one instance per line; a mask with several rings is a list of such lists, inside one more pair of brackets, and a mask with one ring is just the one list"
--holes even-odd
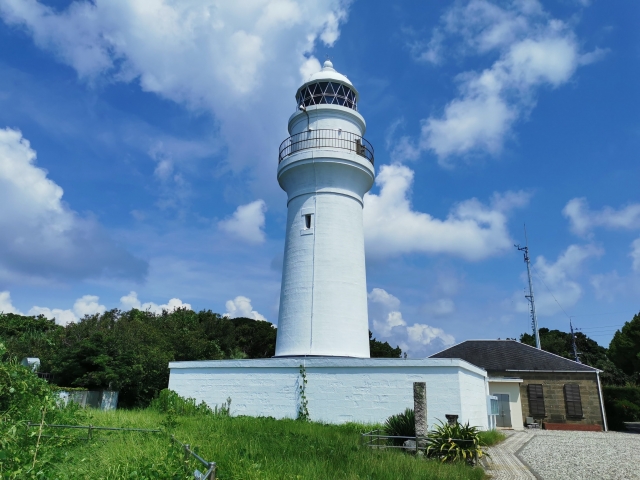
[(564, 207), (562, 214), (569, 219), (571, 231), (577, 235), (586, 235), (595, 227), (640, 229), (640, 203), (631, 203), (618, 210), (604, 207), (596, 211), (589, 208), (586, 198), (573, 198)]

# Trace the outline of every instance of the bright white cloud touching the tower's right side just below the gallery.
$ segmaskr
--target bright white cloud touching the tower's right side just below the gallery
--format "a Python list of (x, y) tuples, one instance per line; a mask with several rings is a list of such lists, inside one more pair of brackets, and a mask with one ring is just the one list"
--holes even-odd
[(490, 205), (472, 198), (457, 204), (445, 220), (412, 210), (413, 171), (384, 165), (376, 177), (380, 194), (365, 195), (364, 232), (367, 253), (389, 256), (424, 252), (480, 260), (512, 248), (507, 213), (526, 205), (525, 192), (494, 194)]

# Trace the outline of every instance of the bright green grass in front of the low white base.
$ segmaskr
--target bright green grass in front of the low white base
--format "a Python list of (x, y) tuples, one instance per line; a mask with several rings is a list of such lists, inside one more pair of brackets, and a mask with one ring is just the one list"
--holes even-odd
[[(92, 413), (93, 425), (157, 428), (167, 416), (153, 410)], [(441, 464), (397, 450), (370, 450), (360, 445), (368, 426), (323, 425), (272, 418), (177, 417), (169, 432), (218, 464), (220, 480), (474, 480), (480, 468)], [(187, 479), (195, 468), (184, 465), (169, 432), (98, 432), (69, 448), (64, 461), (47, 478), (54, 479)]]

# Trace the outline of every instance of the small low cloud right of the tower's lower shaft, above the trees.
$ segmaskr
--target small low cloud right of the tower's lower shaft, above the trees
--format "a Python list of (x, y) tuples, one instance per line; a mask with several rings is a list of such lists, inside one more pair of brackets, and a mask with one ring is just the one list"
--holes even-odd
[(433, 346), (452, 345), (453, 336), (423, 323), (408, 326), (400, 311), (400, 300), (382, 288), (368, 295), (369, 317), (378, 338), (397, 344), (411, 356), (425, 356)]

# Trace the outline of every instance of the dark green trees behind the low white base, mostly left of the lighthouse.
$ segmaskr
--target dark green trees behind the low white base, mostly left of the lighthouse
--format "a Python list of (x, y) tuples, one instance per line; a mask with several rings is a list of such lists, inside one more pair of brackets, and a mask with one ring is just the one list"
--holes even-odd
[[(167, 387), (172, 361), (269, 358), (277, 329), (269, 322), (224, 318), (209, 310), (111, 310), (66, 327), (53, 320), (0, 313), (0, 341), (7, 356), (38, 357), (53, 383), (90, 390), (118, 390), (119, 407), (145, 407)], [(370, 338), (372, 356), (401, 350)]]

